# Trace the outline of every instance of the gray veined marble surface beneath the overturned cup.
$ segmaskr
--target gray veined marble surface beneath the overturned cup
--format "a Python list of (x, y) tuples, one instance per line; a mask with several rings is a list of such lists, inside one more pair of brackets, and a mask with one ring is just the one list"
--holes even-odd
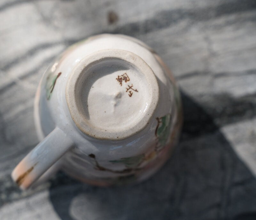
[[(1, 0), (0, 219), (256, 219), (255, 0)], [(121, 33), (163, 57), (182, 92), (180, 144), (154, 177), (99, 188), (64, 173), (26, 192), (10, 178), (38, 142), (33, 98), (50, 61)]]

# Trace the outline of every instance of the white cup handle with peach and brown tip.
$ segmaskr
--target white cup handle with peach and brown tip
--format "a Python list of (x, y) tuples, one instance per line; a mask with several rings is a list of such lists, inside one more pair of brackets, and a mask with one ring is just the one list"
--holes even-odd
[(27, 189), (73, 145), (74, 142), (56, 127), (14, 168), (13, 181), (21, 189)]

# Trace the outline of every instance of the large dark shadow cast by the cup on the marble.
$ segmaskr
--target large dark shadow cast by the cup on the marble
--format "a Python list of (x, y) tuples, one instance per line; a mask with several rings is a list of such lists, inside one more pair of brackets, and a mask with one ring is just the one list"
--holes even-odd
[(239, 214), (256, 204), (255, 178), (203, 108), (181, 96), (180, 143), (164, 167), (141, 184), (110, 188), (59, 172), (50, 200), (61, 219), (256, 219)]

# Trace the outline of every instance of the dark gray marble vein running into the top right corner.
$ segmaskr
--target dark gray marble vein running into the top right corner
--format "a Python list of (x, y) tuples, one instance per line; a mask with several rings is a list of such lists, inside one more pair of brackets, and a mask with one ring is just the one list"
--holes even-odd
[[(161, 11), (155, 14), (154, 17), (149, 18), (143, 22), (132, 22), (115, 28), (108, 33), (119, 33), (126, 35), (138, 35), (141, 31), (144, 33), (156, 31), (159, 29), (167, 28), (171, 25), (175, 25), (181, 20), (188, 19), (189, 22), (207, 21), (220, 16), (229, 15), (238, 12), (248, 12), (256, 10), (256, 1), (245, 0), (243, 2), (231, 1), (223, 3), (217, 7), (207, 7), (202, 9), (175, 9)], [(143, 30), (141, 30), (143, 27)]]

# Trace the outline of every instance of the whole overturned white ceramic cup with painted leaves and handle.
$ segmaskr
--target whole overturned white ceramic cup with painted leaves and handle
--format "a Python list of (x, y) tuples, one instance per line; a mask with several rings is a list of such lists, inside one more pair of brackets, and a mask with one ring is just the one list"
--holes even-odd
[(35, 99), (41, 142), (12, 178), (22, 189), (58, 169), (94, 185), (142, 181), (170, 157), (181, 121), (177, 85), (151, 48), (92, 36), (44, 73)]

